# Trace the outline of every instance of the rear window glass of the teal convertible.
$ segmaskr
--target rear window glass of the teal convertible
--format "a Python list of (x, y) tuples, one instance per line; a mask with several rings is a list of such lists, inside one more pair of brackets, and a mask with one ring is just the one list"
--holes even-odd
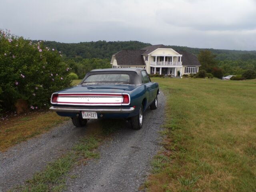
[(130, 76), (128, 74), (92, 74), (84, 80), (84, 83), (97, 82), (116, 82), (129, 84)]

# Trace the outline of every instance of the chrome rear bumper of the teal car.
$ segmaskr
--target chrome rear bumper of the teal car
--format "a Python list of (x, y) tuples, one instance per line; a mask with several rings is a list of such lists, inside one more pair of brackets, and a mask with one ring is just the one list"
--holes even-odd
[(97, 113), (132, 113), (134, 112), (134, 107), (128, 107), (128, 108), (117, 108), (117, 107), (101, 107), (101, 108), (86, 108), (86, 107), (58, 107), (58, 106), (52, 106), (50, 107), (50, 110), (55, 112), (69, 112), (69, 113), (80, 113), (81, 111), (95, 111)]

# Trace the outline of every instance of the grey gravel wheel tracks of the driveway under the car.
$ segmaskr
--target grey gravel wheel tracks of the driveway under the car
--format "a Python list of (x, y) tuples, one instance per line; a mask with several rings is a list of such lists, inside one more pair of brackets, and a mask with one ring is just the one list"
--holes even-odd
[[(124, 121), (112, 139), (99, 147), (99, 159), (74, 167), (70, 174), (76, 178), (68, 178), (67, 191), (138, 191), (150, 171), (150, 161), (160, 149), (158, 132), (164, 122), (166, 102), (162, 93), (158, 101), (157, 110), (146, 110), (141, 130), (131, 130), (130, 124)], [(88, 129), (96, 124), (95, 120), (90, 120)], [(0, 152), (0, 192), (23, 184), (34, 172), (70, 150), (88, 129), (75, 128), (68, 121), (38, 138)]]

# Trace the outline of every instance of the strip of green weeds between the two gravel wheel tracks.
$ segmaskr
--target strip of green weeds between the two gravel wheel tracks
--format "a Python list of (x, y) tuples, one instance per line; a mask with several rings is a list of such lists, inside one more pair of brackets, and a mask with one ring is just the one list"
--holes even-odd
[[(76, 144), (72, 151), (58, 160), (48, 164), (46, 169), (42, 172), (34, 174), (31, 180), (26, 181), (26, 185), (21, 187), (22, 192), (60, 192), (65, 188), (66, 176), (68, 172), (78, 161), (82, 158), (99, 158), (99, 154), (95, 150), (99, 143), (100, 138), (96, 136), (89, 136), (82, 138)], [(70, 176), (72, 177), (72, 176)], [(74, 178), (74, 177), (72, 177)], [(17, 190), (14, 190), (17, 191)], [(20, 190), (18, 190), (20, 191)]]

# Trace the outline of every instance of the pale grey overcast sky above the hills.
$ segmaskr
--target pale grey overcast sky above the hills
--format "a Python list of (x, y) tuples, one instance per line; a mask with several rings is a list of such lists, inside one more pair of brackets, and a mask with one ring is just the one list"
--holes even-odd
[(0, 28), (32, 40), (256, 50), (256, 0), (0, 0)]

